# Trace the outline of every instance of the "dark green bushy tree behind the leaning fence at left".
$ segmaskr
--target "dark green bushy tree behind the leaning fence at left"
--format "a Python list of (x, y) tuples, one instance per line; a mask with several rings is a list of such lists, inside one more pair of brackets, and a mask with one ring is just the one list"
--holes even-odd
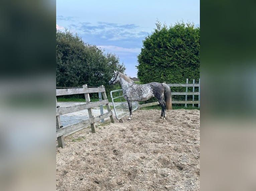
[(109, 93), (108, 85), (113, 71), (125, 71), (119, 58), (105, 53), (95, 45), (85, 43), (77, 34), (56, 30), (56, 86), (81, 87), (83, 84), (99, 87), (103, 85)]

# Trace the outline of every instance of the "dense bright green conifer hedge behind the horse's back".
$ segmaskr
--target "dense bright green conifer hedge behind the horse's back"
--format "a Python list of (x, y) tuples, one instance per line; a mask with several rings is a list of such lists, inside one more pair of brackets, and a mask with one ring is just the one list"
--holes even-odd
[(142, 83), (185, 83), (200, 78), (200, 28), (178, 22), (156, 29), (143, 40), (138, 55), (138, 78)]

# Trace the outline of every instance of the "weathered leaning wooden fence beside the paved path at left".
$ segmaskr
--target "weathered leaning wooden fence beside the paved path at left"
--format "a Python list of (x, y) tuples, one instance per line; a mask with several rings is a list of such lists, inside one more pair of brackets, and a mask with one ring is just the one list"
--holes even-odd
[[(102, 93), (103, 95), (103, 100), (95, 101), (90, 103), (90, 93)], [(56, 89), (56, 96), (59, 95), (74, 95), (74, 94), (85, 94), (85, 104), (80, 104), (80, 105), (74, 105), (70, 107), (59, 107), (57, 103), (57, 98), (56, 98), (56, 138), (58, 142), (58, 147), (65, 147), (64, 140), (63, 140), (63, 135), (70, 133), (70, 132), (76, 132), (80, 130), (83, 127), (86, 127), (91, 124), (92, 132), (95, 133), (95, 122), (99, 120), (103, 120), (106, 117), (110, 117), (110, 120), (112, 123), (114, 123), (113, 119), (113, 113), (109, 107), (109, 101), (106, 96), (106, 91), (103, 85), (101, 87), (96, 87), (96, 88), (88, 88), (87, 85), (83, 85), (83, 88), (69, 88), (69, 89)], [(94, 116), (92, 112), (93, 107), (101, 106), (106, 104), (107, 113), (103, 113), (99, 116)], [(71, 125), (68, 125), (66, 127), (63, 127), (60, 123), (60, 115), (67, 114), (67, 113), (72, 113), (75, 111), (80, 111), (88, 109), (89, 113), (89, 119), (74, 123)]]

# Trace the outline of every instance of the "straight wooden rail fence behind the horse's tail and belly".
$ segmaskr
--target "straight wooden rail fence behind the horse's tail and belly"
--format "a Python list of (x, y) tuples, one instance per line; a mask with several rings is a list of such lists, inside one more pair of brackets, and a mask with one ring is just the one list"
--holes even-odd
[[(165, 83), (165, 82), (164, 82)], [(198, 107), (200, 107), (200, 79), (199, 83), (195, 84), (195, 80), (193, 80), (193, 84), (188, 84), (188, 79), (186, 79), (186, 84), (167, 84), (169, 87), (186, 87), (185, 92), (171, 92), (171, 95), (185, 95), (185, 100), (171, 100), (171, 103), (181, 103), (185, 104), (185, 107), (187, 104), (198, 104)], [(193, 87), (193, 92), (187, 92), (188, 87)], [(199, 91), (195, 92), (195, 87), (199, 87)], [(193, 95), (193, 100), (187, 100), (187, 95)], [(194, 95), (198, 95), (198, 100), (194, 100)], [(151, 103), (145, 103), (145, 104), (138, 104), (139, 109), (142, 107), (152, 106), (152, 105), (158, 105), (159, 102), (151, 102)]]

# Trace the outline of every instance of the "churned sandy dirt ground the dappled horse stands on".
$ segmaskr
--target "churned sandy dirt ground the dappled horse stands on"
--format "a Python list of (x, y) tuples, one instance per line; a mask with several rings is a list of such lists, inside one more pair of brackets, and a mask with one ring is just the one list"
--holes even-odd
[(200, 190), (200, 111), (136, 110), (56, 148), (56, 190)]

